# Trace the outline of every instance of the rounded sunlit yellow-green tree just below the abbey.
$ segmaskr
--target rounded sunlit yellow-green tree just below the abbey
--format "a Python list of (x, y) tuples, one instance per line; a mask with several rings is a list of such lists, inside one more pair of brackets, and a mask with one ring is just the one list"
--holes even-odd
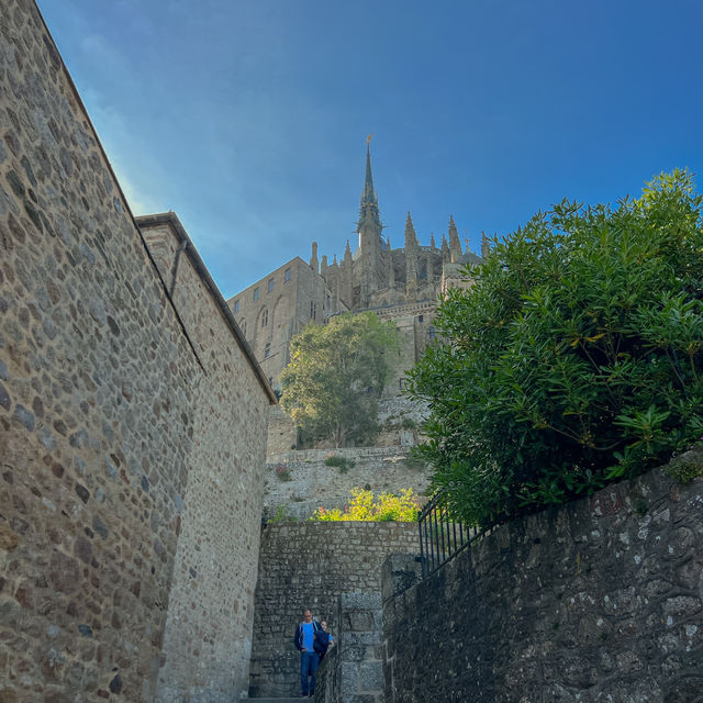
[(377, 405), (399, 346), (398, 331), (375, 313), (346, 313), (309, 324), (291, 341), (281, 375), (281, 406), (313, 440), (335, 446), (378, 431)]

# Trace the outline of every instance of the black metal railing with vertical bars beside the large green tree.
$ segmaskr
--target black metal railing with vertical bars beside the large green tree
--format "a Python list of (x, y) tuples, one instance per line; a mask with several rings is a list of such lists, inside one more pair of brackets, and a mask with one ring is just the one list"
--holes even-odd
[(442, 565), (454, 559), (487, 529), (467, 527), (451, 514), (447, 498), (437, 493), (417, 516), (422, 578), (434, 573)]

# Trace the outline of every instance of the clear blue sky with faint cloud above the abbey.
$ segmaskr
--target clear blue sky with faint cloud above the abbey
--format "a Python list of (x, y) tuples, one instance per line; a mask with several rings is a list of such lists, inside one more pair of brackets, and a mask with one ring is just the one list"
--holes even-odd
[(225, 297), (386, 234), (471, 248), (689, 167), (700, 0), (38, 0), (135, 214), (174, 210)]

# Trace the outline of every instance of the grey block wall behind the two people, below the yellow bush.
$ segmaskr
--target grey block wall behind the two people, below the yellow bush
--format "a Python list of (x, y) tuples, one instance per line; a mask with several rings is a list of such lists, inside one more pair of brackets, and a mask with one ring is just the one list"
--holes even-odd
[(249, 694), (300, 693), (293, 634), (310, 607), (336, 632), (343, 593), (380, 590), (381, 566), (393, 551), (414, 551), (415, 523), (276, 523), (261, 536)]

